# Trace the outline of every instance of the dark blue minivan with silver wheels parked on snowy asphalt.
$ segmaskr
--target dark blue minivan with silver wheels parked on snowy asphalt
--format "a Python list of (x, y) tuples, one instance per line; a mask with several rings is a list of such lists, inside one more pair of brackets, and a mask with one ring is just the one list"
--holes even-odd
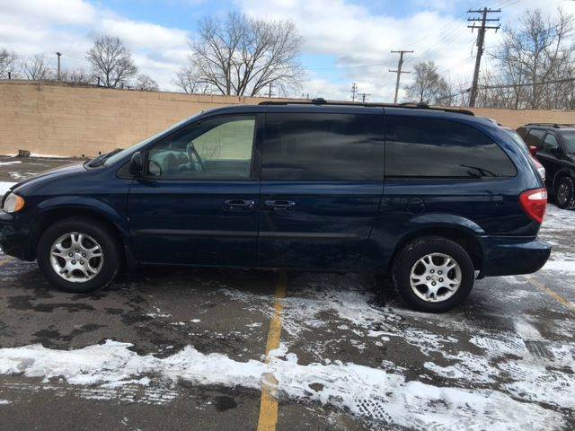
[(471, 112), (264, 102), (16, 184), (0, 244), (69, 292), (137, 264), (368, 272), (442, 312), (475, 277), (544, 265), (546, 201), (526, 154)]

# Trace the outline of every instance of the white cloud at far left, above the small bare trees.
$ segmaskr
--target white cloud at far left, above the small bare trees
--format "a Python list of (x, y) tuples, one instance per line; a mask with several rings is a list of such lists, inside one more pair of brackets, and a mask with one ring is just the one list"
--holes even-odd
[(84, 0), (0, 0), (0, 10), (0, 45), (22, 57), (44, 54), (54, 68), (59, 51), (64, 68), (87, 69), (94, 36), (110, 34), (127, 43), (142, 73), (173, 90), (173, 75), (188, 54), (188, 31), (128, 20)]

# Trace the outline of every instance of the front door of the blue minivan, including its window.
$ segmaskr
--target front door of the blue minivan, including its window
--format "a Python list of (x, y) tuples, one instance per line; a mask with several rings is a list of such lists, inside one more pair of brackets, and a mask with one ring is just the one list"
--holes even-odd
[(139, 261), (255, 265), (257, 125), (257, 115), (202, 119), (149, 149), (128, 197)]

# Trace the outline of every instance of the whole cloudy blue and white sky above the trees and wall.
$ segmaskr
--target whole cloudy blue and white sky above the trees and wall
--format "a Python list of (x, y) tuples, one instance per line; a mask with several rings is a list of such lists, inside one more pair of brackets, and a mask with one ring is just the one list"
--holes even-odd
[[(174, 72), (187, 61), (187, 40), (206, 15), (236, 10), (266, 19), (296, 23), (304, 37), (301, 62), (305, 82), (292, 96), (350, 98), (352, 83), (371, 101), (391, 101), (397, 55), (411, 49), (404, 68), (432, 60), (440, 72), (468, 83), (473, 73), (476, 33), (467, 29), (469, 8), (501, 8), (502, 25), (517, 26), (527, 9), (544, 4), (575, 13), (571, 0), (0, 0), (0, 48), (22, 57), (46, 55), (56, 66), (85, 65), (85, 51), (100, 34), (119, 36), (131, 48), (137, 66), (164, 91), (175, 90)], [(487, 52), (500, 43), (490, 31)], [(489, 67), (489, 56), (484, 66)], [(410, 75), (403, 75), (409, 84)]]

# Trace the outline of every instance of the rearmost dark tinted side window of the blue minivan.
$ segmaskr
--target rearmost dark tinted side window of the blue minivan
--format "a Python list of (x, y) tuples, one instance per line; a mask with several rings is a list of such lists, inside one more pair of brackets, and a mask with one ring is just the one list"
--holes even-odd
[(515, 166), (479, 130), (442, 119), (385, 119), (385, 176), (399, 178), (512, 177)]

